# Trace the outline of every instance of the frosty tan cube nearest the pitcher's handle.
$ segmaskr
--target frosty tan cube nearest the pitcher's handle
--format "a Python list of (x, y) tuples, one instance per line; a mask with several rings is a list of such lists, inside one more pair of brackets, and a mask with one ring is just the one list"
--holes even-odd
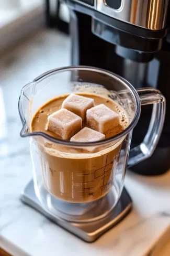
[(87, 125), (98, 132), (106, 134), (119, 124), (119, 115), (104, 104), (87, 110)]

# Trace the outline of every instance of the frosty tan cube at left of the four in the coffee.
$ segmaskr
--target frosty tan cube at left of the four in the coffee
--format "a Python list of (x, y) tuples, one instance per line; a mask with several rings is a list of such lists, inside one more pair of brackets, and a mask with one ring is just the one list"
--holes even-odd
[(48, 116), (47, 129), (63, 140), (70, 140), (82, 129), (82, 119), (67, 109), (61, 109)]

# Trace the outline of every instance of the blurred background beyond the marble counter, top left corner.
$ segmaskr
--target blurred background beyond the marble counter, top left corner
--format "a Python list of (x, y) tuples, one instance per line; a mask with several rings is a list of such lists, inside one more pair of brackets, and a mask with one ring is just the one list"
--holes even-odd
[(44, 26), (68, 32), (69, 11), (58, 0), (0, 0), (0, 53)]

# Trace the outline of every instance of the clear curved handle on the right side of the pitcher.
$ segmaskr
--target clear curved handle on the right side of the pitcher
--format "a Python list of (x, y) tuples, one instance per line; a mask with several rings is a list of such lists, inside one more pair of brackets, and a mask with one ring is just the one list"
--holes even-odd
[(143, 142), (130, 150), (128, 167), (149, 158), (158, 143), (164, 125), (166, 101), (162, 93), (153, 88), (137, 89), (141, 105), (153, 104), (152, 116)]

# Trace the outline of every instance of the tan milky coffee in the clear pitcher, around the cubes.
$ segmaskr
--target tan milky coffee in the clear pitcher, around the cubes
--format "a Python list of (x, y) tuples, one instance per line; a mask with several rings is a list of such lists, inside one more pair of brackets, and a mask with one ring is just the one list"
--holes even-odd
[[(96, 94), (79, 94), (93, 98), (95, 105), (103, 103), (119, 113), (121, 125), (107, 132), (106, 138), (120, 133), (128, 126), (127, 115), (116, 102)], [(55, 98), (41, 106), (33, 116), (31, 132), (41, 131), (60, 138), (46, 131), (46, 124), (48, 115), (61, 109), (62, 102), (67, 96)], [(89, 202), (108, 193), (114, 183), (116, 165), (124, 138), (109, 145), (88, 148), (73, 148), (50, 141), (42, 143), (33, 140), (36, 144), (42, 182), (50, 194), (69, 202)]]

